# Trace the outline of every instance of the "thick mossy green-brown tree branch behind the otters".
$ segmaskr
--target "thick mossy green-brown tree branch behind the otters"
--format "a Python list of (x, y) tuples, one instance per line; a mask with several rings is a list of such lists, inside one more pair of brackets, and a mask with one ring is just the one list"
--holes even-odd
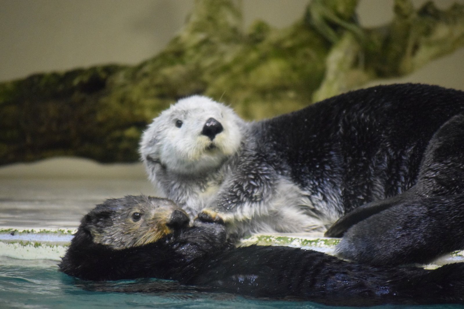
[(249, 119), (302, 108), (376, 78), (408, 74), (464, 45), (464, 6), (396, 0), (366, 29), (356, 0), (313, 0), (284, 29), (242, 30), (239, 0), (197, 0), (166, 49), (136, 65), (103, 65), (0, 84), (0, 164), (73, 155), (138, 160), (147, 123), (180, 97), (205, 94)]

